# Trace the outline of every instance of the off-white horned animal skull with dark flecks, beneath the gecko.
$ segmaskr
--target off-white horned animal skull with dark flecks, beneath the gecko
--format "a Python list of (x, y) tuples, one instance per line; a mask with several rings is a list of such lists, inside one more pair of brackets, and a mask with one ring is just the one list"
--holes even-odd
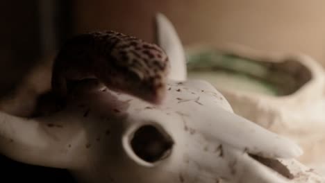
[(19, 162), (67, 168), (80, 182), (320, 179), (291, 159), (302, 153), (297, 145), (233, 114), (205, 81), (169, 80), (161, 105), (106, 88), (77, 88), (67, 103), (65, 110), (33, 119), (1, 112), (0, 152)]

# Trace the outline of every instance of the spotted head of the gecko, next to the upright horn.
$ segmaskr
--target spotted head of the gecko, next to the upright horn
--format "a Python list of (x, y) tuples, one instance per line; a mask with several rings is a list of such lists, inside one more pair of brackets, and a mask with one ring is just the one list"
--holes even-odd
[[(169, 60), (167, 54), (156, 44), (136, 37), (120, 38), (109, 55), (110, 89), (131, 94), (144, 101), (159, 104), (165, 98)], [(113, 73), (113, 74), (112, 74)]]

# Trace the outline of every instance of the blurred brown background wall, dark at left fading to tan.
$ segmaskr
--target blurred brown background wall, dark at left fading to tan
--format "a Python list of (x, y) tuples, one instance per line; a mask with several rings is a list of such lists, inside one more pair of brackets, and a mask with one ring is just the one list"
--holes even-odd
[[(77, 33), (113, 29), (153, 41), (157, 11), (173, 22), (185, 46), (233, 42), (305, 53), (325, 66), (324, 7), (322, 0), (1, 1), (0, 96), (15, 88), (35, 63), (52, 62), (64, 40)], [(8, 172), (27, 173), (26, 179), (39, 175), (40, 169), (5, 157), (1, 161)]]

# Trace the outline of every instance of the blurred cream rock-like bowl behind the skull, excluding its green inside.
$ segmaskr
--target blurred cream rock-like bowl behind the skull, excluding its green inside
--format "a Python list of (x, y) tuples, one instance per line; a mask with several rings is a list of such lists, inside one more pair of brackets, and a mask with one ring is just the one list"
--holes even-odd
[[(188, 53), (195, 55), (211, 48), (212, 46), (190, 46)], [(290, 93), (281, 96), (231, 89), (222, 87), (222, 83), (216, 83), (215, 87), (231, 103), (236, 114), (272, 132), (294, 139), (304, 150), (299, 160), (313, 168), (319, 168), (319, 171), (322, 168), (324, 170), (325, 75), (322, 66), (308, 55), (297, 53), (264, 52), (235, 44), (219, 51), (256, 60), (261, 66), (273, 64), (276, 68), (274, 70), (286, 69), (288, 75), (294, 75), (292, 82), (297, 82), (294, 84), (299, 87), (294, 87)], [(275, 78), (272, 75), (267, 77)], [(281, 86), (281, 89), (288, 86), (290, 83)]]

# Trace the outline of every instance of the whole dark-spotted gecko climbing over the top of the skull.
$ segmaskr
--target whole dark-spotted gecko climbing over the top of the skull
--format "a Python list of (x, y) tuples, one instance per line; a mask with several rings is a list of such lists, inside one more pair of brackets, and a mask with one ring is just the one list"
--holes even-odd
[(115, 92), (158, 104), (168, 71), (168, 57), (159, 46), (110, 30), (67, 40), (53, 63), (51, 85), (64, 98), (70, 81), (95, 78)]

